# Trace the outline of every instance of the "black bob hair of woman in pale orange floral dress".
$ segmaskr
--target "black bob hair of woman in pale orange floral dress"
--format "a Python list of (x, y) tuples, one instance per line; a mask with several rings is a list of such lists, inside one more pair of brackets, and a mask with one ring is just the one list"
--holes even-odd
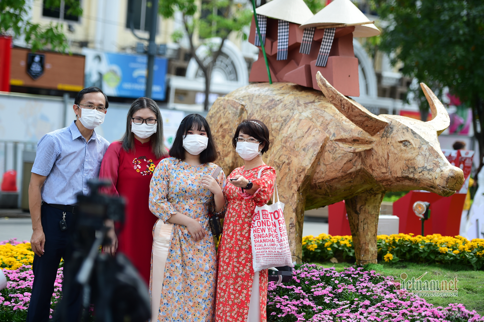
[(170, 157), (184, 160), (185, 148), (183, 147), (183, 139), (186, 136), (186, 132), (190, 130), (200, 131), (202, 127), (207, 132), (209, 142), (207, 144), (207, 148), (200, 153), (200, 162), (207, 163), (217, 160), (217, 147), (215, 146), (215, 142), (213, 141), (209, 123), (207, 122), (205, 117), (202, 117), (200, 114), (190, 114), (183, 118), (180, 126), (178, 127), (175, 140), (173, 141), (173, 145), (170, 148)]

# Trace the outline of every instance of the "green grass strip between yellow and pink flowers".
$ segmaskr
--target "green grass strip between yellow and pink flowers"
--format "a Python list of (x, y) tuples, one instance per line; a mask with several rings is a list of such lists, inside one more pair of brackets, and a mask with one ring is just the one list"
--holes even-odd
[[(341, 272), (345, 267), (350, 267), (350, 263), (315, 263), (323, 267), (334, 267)], [(439, 265), (439, 264), (418, 264), (418, 263), (378, 263), (368, 264), (365, 269), (375, 270), (384, 276), (393, 276), (397, 279), (400, 274), (407, 273), (408, 278), (418, 278), (425, 272), (423, 279), (442, 279), (451, 280), (457, 277), (457, 287), (459, 295), (456, 297), (432, 297), (424, 296), (428, 303), (435, 306), (445, 307), (450, 303), (462, 303), (469, 310), (476, 310), (479, 315), (484, 315), (484, 271), (473, 271), (469, 267), (462, 265)]]

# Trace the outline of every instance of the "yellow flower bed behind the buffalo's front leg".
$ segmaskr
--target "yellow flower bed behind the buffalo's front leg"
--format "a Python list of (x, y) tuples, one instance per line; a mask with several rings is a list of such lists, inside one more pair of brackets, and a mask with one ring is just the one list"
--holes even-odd
[[(394, 234), (378, 235), (378, 260), (415, 263), (455, 263), (474, 269), (484, 268), (484, 239), (467, 240), (462, 236)], [(351, 236), (320, 234), (302, 238), (302, 259), (325, 262), (336, 257), (355, 260)]]

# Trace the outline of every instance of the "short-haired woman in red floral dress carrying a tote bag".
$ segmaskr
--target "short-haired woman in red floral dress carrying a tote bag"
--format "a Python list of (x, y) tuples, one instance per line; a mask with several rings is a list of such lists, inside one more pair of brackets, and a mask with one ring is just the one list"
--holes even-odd
[(267, 269), (254, 274), (250, 225), (256, 206), (267, 204), (274, 189), (275, 170), (262, 161), (269, 148), (269, 130), (259, 120), (244, 120), (232, 144), (244, 166), (232, 171), (224, 189), (227, 211), (217, 256), (215, 321), (265, 322)]

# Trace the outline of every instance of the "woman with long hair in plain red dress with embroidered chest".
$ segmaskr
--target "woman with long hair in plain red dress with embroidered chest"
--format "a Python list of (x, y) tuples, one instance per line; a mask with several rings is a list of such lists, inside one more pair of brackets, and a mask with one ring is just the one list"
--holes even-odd
[(99, 177), (113, 186), (105, 192), (126, 200), (124, 228), (116, 237), (110, 231), (113, 245), (104, 250), (123, 252), (148, 284), (153, 229), (156, 218), (148, 208), (150, 180), (154, 168), (168, 156), (163, 144), (163, 120), (158, 105), (147, 97), (138, 98), (128, 111), (126, 133), (109, 145), (101, 163)]

